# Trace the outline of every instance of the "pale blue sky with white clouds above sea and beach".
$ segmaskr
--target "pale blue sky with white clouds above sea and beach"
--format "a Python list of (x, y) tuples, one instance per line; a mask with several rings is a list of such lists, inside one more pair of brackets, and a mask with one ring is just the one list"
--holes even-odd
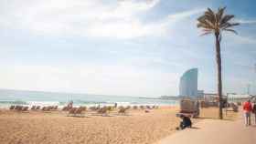
[(221, 41), (224, 92), (256, 94), (254, 0), (0, 0), (0, 87), (174, 96), (198, 67), (198, 89), (215, 92), (214, 37), (197, 17), (225, 5), (240, 26)]

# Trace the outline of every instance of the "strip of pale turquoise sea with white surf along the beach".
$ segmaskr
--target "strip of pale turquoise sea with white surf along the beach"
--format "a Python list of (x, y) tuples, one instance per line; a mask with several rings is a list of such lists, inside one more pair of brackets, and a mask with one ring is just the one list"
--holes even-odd
[(74, 107), (86, 106), (176, 106), (177, 100), (150, 98), (150, 97), (129, 97), (129, 96), (108, 96), (90, 95), (59, 92), (27, 91), (0, 89), (0, 108), (8, 108), (12, 105), (28, 106), (66, 106), (73, 101)]

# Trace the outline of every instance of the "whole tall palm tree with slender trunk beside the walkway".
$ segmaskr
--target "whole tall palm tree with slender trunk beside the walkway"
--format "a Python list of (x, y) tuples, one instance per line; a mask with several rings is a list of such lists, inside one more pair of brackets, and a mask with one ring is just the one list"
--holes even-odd
[(208, 34), (214, 34), (216, 43), (216, 62), (218, 67), (218, 96), (219, 96), (219, 118), (222, 119), (222, 79), (221, 79), (221, 57), (220, 57), (220, 41), (221, 34), (224, 31), (232, 32), (237, 34), (237, 32), (231, 29), (233, 26), (240, 25), (239, 23), (232, 23), (230, 20), (234, 15), (224, 15), (226, 7), (218, 9), (218, 12), (213, 12), (210, 8), (197, 18), (197, 27), (202, 28), (203, 34), (205, 36)]

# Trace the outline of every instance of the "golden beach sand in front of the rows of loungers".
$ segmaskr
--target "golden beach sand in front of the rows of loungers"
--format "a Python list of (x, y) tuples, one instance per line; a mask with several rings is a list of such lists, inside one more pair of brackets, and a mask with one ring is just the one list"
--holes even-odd
[[(66, 112), (1, 110), (1, 144), (150, 144), (176, 132), (178, 108), (130, 110), (127, 116), (67, 117)], [(230, 118), (235, 118), (230, 114)], [(218, 118), (218, 108), (204, 108), (202, 118)], [(197, 122), (202, 118), (192, 119)]]

